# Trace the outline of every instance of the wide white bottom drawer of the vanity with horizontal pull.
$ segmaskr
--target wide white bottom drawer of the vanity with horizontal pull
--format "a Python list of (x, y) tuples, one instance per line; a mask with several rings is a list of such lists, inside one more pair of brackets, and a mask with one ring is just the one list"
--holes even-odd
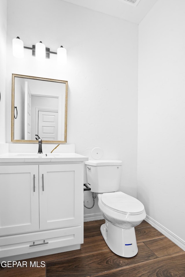
[(81, 226), (76, 226), (0, 237), (0, 257), (81, 244), (83, 243), (81, 229)]

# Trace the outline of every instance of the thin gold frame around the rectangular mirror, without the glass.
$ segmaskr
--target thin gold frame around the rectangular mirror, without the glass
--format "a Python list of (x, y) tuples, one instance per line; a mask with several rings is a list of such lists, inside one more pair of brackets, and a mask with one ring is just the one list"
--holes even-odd
[[(64, 105), (64, 140), (61, 141), (52, 141), (52, 140), (42, 140), (43, 143), (66, 143), (67, 142), (67, 81), (62, 80), (55, 80), (49, 78), (40, 78), (34, 76), (27, 76), (27, 75), (19, 75), (19, 74), (12, 74), (12, 132), (11, 132), (11, 141), (14, 143), (38, 143), (37, 140), (25, 140), (25, 139), (14, 139), (14, 119), (17, 117), (17, 107), (15, 107), (15, 78), (26, 78), (32, 80), (40, 80), (40, 81), (49, 81), (55, 83), (63, 83), (65, 84), (65, 103)], [(15, 110), (16, 108), (16, 110)]]

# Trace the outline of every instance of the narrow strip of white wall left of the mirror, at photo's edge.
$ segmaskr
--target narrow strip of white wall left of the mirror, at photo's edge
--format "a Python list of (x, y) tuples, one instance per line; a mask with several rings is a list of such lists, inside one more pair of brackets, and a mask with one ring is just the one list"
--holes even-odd
[(5, 142), (5, 80), (6, 80), (7, 2), (0, 1), (0, 142)]

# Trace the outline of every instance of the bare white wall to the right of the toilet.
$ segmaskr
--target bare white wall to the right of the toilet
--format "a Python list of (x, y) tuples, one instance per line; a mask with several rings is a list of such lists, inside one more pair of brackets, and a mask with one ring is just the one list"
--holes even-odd
[(184, 11), (160, 0), (139, 25), (138, 199), (185, 249)]

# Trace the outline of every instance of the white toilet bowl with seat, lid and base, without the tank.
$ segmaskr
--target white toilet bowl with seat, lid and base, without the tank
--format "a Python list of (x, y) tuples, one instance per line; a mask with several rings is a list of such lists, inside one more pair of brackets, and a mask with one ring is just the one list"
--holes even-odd
[(106, 221), (100, 228), (106, 244), (119, 256), (135, 256), (138, 247), (134, 227), (146, 217), (143, 204), (123, 192), (97, 193), (97, 196)]

